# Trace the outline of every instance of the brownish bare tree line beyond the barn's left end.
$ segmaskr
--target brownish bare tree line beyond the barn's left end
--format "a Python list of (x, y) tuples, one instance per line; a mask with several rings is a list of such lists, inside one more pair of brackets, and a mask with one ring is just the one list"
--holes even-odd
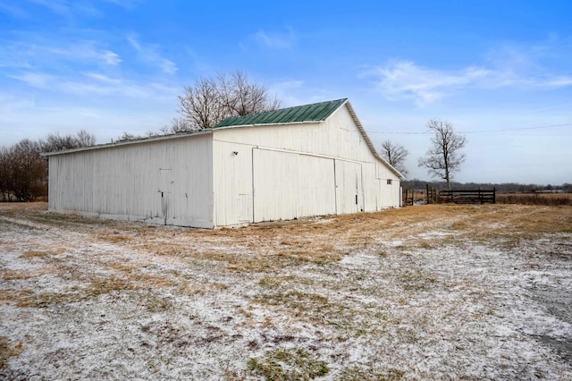
[(47, 159), (42, 152), (93, 146), (96, 138), (88, 131), (76, 135), (50, 133), (45, 139), (24, 139), (0, 147), (0, 200), (34, 201), (47, 196)]

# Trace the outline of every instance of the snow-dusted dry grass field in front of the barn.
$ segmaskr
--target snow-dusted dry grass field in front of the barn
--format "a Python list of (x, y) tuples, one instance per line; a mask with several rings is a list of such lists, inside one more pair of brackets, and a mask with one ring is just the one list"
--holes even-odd
[(0, 379), (572, 379), (572, 207), (198, 230), (0, 204)]

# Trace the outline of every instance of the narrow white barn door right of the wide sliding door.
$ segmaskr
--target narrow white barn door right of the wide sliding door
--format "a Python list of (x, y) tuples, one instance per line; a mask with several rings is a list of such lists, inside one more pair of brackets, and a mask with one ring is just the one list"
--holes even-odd
[(361, 164), (335, 160), (336, 212), (339, 215), (364, 210)]

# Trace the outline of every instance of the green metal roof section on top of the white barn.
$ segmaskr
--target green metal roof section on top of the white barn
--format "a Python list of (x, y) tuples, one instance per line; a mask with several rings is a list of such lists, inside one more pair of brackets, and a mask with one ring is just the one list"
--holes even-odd
[(282, 108), (280, 110), (267, 111), (265, 113), (259, 114), (231, 116), (224, 119), (223, 122), (216, 124), (213, 128), (253, 124), (321, 122), (330, 116), (347, 100), (347, 98), (343, 98), (330, 100), (327, 102), (314, 103), (312, 105)]

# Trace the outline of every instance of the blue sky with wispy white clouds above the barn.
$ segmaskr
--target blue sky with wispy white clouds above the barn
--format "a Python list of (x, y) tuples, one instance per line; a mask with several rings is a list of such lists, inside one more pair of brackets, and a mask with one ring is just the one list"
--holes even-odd
[[(198, 4), (196, 4), (198, 3)], [(467, 133), (460, 182), (572, 182), (572, 2), (0, 0), (0, 145), (158, 131), (240, 70), (298, 106), (348, 97), (376, 146)]]

